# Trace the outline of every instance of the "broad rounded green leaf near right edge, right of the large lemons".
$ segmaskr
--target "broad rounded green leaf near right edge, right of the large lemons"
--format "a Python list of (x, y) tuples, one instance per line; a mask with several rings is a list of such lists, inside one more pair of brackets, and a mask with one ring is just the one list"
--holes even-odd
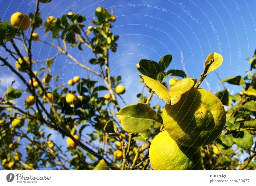
[(234, 133), (232, 134), (231, 138), (238, 147), (244, 150), (249, 150), (252, 148), (253, 137), (248, 131), (240, 131), (239, 133)]

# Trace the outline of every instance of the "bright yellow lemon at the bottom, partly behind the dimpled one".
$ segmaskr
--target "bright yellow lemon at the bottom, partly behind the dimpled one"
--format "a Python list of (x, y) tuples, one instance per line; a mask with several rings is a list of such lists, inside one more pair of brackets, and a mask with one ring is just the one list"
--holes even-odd
[(199, 170), (200, 151), (176, 143), (165, 130), (152, 140), (149, 161), (154, 170)]

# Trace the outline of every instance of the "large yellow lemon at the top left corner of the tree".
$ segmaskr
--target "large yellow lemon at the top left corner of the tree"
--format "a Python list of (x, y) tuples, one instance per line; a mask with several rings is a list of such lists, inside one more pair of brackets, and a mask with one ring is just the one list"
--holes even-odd
[(20, 30), (27, 30), (30, 25), (28, 16), (21, 12), (16, 12), (11, 16), (11, 24), (14, 27), (19, 27)]

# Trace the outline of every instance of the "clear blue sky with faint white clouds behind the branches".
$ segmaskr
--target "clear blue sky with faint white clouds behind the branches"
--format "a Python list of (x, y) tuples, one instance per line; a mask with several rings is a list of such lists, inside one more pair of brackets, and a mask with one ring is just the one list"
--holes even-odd
[[(28, 14), (35, 9), (33, 0), (0, 0), (0, 5), (0, 18), (3, 21), (9, 20), (14, 12)], [(49, 4), (40, 5), (41, 17), (44, 20), (50, 15), (57, 17), (62, 12), (67, 14), (69, 10), (66, 10), (70, 5), (73, 12), (83, 14), (87, 18), (86, 26), (90, 25), (98, 6), (96, 0), (53, 0)], [(246, 58), (252, 56), (256, 47), (255, 1), (103, 0), (100, 5), (104, 5), (109, 11), (113, 6), (116, 15), (112, 32), (120, 38), (117, 42), (117, 52), (110, 54), (110, 69), (113, 76), (122, 75), (124, 85), (131, 80), (124, 94), (127, 104), (137, 103), (136, 95), (143, 88), (135, 67), (141, 58), (159, 61), (162, 56), (172, 54), (173, 60), (168, 69), (182, 70), (182, 51), (189, 77), (198, 79), (203, 72), (204, 60), (213, 51), (220, 53), (224, 59), (222, 66), (217, 69), (222, 79), (234, 75), (243, 77), (244, 71), (250, 68)], [(44, 33), (41, 30), (36, 31), (43, 38)], [(50, 46), (40, 42), (34, 42), (33, 48), (36, 49), (33, 51), (34, 60), (52, 57), (57, 53)], [(71, 49), (70, 53), (80, 61), (82, 55), (86, 61), (93, 57), (87, 49), (79, 51), (75, 48)], [(64, 66), (64, 60), (65, 56), (58, 57), (54, 61), (52, 71), (58, 73), (59, 68)], [(15, 61), (11, 60), (10, 63), (14, 64)], [(65, 74), (64, 81), (75, 75), (86, 77), (83, 69), (74, 64), (67, 65), (69, 71)], [(38, 70), (42, 66), (45, 66), (45, 63), (37, 64), (33, 68)], [(0, 68), (2, 92), (10, 86), (15, 76), (9, 72), (6, 74), (5, 67)], [(98, 71), (97, 68), (95, 70)], [(206, 80), (213, 93), (223, 89), (216, 74), (209, 74)], [(226, 86), (234, 94), (240, 91), (239, 86)], [(205, 83), (203, 87), (208, 89)], [(102, 92), (103, 95), (105, 93)], [(144, 94), (147, 95), (146, 92)], [(154, 97), (153, 104), (164, 105), (164, 101)]]

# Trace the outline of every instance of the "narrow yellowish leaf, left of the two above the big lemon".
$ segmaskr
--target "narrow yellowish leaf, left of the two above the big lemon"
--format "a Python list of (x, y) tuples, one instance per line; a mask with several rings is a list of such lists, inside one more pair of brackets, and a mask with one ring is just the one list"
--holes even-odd
[(159, 98), (163, 99), (165, 103), (170, 104), (171, 97), (169, 95), (169, 90), (164, 85), (145, 75), (139, 75), (139, 76), (141, 79), (143, 79), (143, 81), (148, 86), (148, 88), (156, 92), (156, 95)]

